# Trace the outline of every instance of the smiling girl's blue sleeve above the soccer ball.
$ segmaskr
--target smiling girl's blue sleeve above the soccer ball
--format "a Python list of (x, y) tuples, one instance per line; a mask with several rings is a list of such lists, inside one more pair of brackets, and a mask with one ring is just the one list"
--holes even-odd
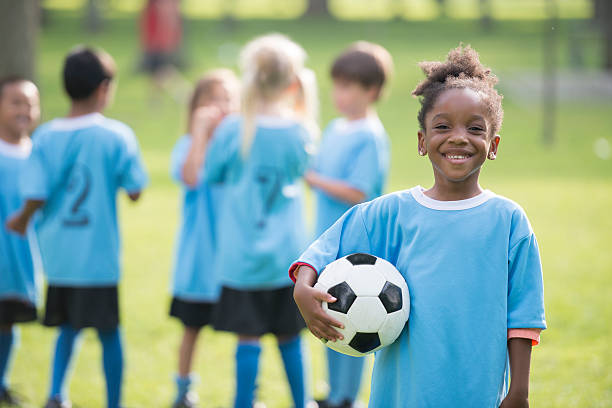
[(296, 262), (311, 265), (320, 273), (329, 263), (355, 252), (372, 252), (361, 206), (348, 210)]

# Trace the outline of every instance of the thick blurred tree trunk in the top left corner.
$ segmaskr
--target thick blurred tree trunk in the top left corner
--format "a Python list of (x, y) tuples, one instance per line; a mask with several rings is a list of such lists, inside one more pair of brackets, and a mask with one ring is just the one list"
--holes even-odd
[(38, 0), (0, 0), (0, 76), (34, 79)]

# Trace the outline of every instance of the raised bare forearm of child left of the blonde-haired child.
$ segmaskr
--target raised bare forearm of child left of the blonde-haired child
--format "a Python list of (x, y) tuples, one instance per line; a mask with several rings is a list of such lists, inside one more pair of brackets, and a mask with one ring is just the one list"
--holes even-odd
[(206, 156), (206, 147), (223, 116), (223, 112), (214, 106), (205, 106), (193, 113), (191, 147), (181, 171), (183, 181), (190, 187), (198, 184), (200, 169)]

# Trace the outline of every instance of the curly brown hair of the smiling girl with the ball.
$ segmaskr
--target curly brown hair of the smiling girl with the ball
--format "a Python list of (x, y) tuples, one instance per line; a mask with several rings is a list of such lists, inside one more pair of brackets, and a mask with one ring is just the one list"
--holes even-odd
[(493, 136), (499, 132), (504, 110), (501, 106), (502, 95), (495, 89), (497, 77), (491, 69), (480, 63), (478, 53), (469, 45), (459, 45), (450, 50), (446, 61), (423, 61), (419, 63), (427, 78), (412, 91), (419, 97), (421, 110), (418, 120), (421, 130), (425, 130), (425, 115), (433, 108), (438, 96), (447, 89), (468, 88), (477, 92), (491, 121)]

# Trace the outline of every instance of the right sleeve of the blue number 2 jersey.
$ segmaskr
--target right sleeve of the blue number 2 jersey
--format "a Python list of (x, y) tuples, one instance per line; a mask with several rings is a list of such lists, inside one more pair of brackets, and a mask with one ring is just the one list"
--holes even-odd
[(148, 182), (138, 140), (131, 130), (122, 132), (117, 165), (119, 186), (129, 193), (141, 191)]

